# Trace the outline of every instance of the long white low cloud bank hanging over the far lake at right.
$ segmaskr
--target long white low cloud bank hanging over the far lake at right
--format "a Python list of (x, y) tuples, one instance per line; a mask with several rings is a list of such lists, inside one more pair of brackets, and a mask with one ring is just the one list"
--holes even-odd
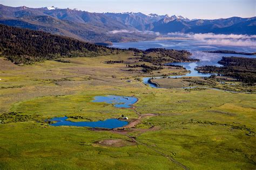
[(243, 35), (243, 34), (214, 34), (214, 33), (196, 33), (185, 34), (179, 32), (171, 32), (170, 36), (183, 36), (199, 40), (205, 44), (211, 45), (229, 45), (229, 46), (255, 46), (256, 35)]

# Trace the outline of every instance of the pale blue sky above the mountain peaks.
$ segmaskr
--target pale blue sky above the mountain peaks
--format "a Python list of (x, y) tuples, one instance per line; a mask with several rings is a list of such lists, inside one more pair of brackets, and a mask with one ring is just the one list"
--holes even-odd
[(89, 12), (143, 12), (190, 19), (256, 16), (256, 0), (0, 0), (8, 6), (77, 8)]

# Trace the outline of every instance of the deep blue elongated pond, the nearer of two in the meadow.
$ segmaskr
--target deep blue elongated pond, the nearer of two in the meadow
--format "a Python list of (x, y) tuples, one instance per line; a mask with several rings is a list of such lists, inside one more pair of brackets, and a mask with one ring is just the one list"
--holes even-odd
[(105, 121), (97, 122), (71, 122), (66, 121), (68, 117), (55, 117), (49, 121), (56, 121), (56, 123), (50, 124), (51, 126), (78, 126), (78, 127), (90, 127), (90, 128), (120, 128), (128, 124), (126, 121), (120, 121), (119, 119), (107, 119)]

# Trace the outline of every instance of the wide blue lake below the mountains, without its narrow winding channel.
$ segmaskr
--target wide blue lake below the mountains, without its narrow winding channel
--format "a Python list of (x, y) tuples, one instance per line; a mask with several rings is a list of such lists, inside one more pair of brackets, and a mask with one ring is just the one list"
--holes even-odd
[(215, 65), (222, 56), (242, 56), (248, 58), (255, 58), (255, 55), (241, 55), (241, 54), (220, 54), (220, 53), (205, 53), (203, 51), (217, 51), (228, 50), (236, 52), (256, 52), (253, 46), (228, 46), (228, 45), (212, 45), (206, 44), (199, 40), (152, 40), (139, 42), (114, 42), (113, 47), (118, 48), (166, 48), (166, 49), (184, 49), (192, 53), (192, 58), (199, 59), (199, 65)]

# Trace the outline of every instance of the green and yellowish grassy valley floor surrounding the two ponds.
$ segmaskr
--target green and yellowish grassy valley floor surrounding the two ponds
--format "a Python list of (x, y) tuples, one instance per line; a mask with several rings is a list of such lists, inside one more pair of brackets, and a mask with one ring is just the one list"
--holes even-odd
[[(110, 59), (126, 62), (104, 63)], [(255, 94), (185, 90), (180, 82), (150, 88), (136, 77), (152, 74), (128, 71), (126, 63), (136, 61), (129, 53), (70, 61), (16, 66), (0, 58), (0, 169), (256, 168)], [(163, 74), (184, 70), (153, 72)], [(115, 108), (92, 102), (98, 95), (135, 96), (138, 102)], [(56, 116), (133, 120), (138, 114), (157, 116), (124, 130), (44, 122)]]

